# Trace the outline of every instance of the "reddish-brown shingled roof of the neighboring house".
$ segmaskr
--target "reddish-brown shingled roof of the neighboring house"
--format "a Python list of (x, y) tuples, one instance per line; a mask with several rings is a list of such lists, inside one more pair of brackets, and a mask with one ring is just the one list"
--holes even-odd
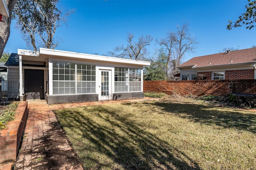
[(228, 64), (256, 63), (256, 48), (230, 51), (229, 53), (218, 53), (194, 57), (178, 68), (191, 66), (193, 68), (206, 66), (221, 66)]

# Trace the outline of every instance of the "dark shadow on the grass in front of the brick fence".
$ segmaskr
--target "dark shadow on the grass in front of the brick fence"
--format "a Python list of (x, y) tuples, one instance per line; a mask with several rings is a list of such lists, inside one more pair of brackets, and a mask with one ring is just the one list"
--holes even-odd
[[(146, 103), (145, 103), (146, 104)], [(160, 106), (170, 114), (190, 119), (203, 124), (215, 124), (223, 128), (235, 128), (238, 130), (256, 133), (256, 114), (232, 108), (204, 106), (197, 104), (184, 104), (172, 102), (148, 103)]]

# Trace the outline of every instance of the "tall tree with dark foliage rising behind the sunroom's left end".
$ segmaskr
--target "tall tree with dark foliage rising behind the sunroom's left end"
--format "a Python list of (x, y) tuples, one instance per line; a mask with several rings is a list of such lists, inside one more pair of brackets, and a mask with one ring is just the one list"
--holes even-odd
[(38, 47), (56, 48), (61, 42), (54, 38), (56, 29), (66, 23), (66, 17), (58, 10), (59, 0), (18, 0), (14, 7), (17, 27), (28, 48), (38, 51)]

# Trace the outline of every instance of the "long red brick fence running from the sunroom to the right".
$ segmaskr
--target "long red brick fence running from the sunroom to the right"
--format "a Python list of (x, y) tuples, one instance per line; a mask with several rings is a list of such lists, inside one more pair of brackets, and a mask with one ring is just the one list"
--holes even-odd
[(182, 96), (216, 95), (230, 93), (256, 94), (256, 80), (178, 80), (144, 81), (144, 92), (163, 92)]

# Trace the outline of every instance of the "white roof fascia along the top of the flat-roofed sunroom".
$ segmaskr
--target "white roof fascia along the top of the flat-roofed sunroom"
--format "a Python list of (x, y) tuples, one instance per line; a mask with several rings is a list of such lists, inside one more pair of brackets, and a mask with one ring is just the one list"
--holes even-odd
[(142, 66), (149, 66), (150, 62), (148, 61), (137, 61), (131, 59), (121, 59), (116, 57), (106, 57), (101, 55), (91, 55), (91, 54), (84, 54), (84, 53), (75, 53), (70, 51), (61, 51), (61, 50), (54, 50), (54, 49), (44, 49), (40, 48), (38, 51), (29, 51), (29, 50), (21, 50), (18, 49), (18, 55), (28, 55), (28, 56), (35, 56), (38, 57), (40, 55), (48, 55), (48, 56), (59, 56), (59, 57), (68, 57), (70, 59), (88, 59), (91, 61), (106, 61), (106, 62), (113, 62), (113, 63), (123, 63), (123, 64), (134, 64), (134, 65), (142, 65)]

